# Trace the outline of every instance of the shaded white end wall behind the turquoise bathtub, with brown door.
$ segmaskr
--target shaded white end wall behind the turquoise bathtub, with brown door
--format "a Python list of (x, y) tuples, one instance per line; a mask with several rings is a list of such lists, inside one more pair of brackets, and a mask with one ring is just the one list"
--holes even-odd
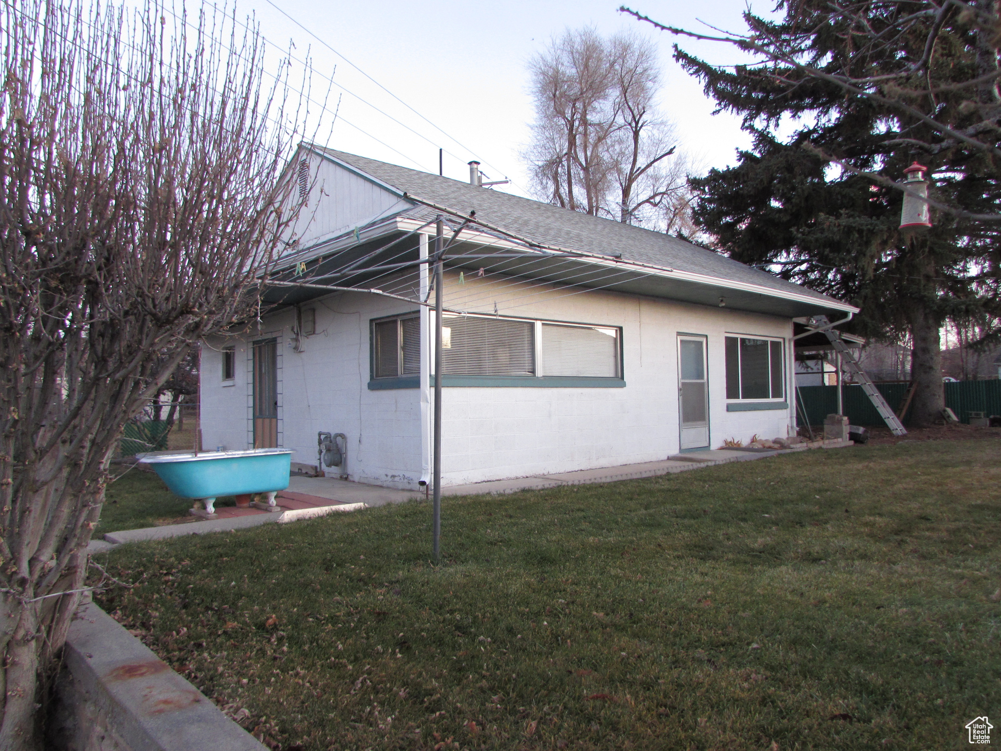
[[(371, 318), (408, 312), (413, 305), (386, 297), (343, 293), (302, 305), (316, 310), (316, 333), (291, 348), (294, 310), (264, 318), (259, 332), (202, 346), (203, 446), (253, 447), (252, 342), (278, 338), (278, 446), (294, 450), (292, 462), (316, 465), (316, 433), (347, 436), (350, 480), (416, 488), (420, 478), (419, 393), (416, 389), (368, 391)], [(233, 386), (222, 384), (223, 344), (236, 346)], [(334, 470), (329, 470), (335, 472)]]

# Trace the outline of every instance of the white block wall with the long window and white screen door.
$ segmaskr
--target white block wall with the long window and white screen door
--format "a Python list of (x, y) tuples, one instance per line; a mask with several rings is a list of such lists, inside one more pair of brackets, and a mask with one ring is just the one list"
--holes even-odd
[[(475, 283), (465, 281), (466, 287)], [(454, 291), (446, 284), (448, 292)], [(536, 289), (538, 291), (538, 287)], [(502, 315), (618, 325), (625, 388), (445, 388), (442, 485), (654, 462), (680, 447), (678, 334), (708, 338), (710, 447), (786, 437), (792, 426), (789, 318), (607, 291), (551, 292)], [(519, 289), (506, 289), (512, 299)], [(547, 295), (540, 295), (547, 296)], [(559, 298), (558, 298), (559, 297)], [(524, 298), (520, 301), (524, 302)], [(785, 410), (727, 412), (724, 337), (786, 339)]]

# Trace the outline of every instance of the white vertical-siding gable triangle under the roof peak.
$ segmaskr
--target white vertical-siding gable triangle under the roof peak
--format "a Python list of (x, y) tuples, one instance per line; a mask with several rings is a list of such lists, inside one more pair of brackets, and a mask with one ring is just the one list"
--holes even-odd
[(413, 205), (377, 182), (308, 151), (300, 151), (291, 165), (295, 179), (292, 200), (300, 196), (299, 158), (303, 155), (309, 158), (309, 190), (293, 229), (299, 249)]

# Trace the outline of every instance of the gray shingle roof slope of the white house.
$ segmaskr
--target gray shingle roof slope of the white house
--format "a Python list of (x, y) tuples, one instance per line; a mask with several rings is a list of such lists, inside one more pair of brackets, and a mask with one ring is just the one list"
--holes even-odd
[[(475, 210), (477, 219), (534, 242), (601, 255), (621, 253), (624, 260), (705, 274), (722, 281), (758, 284), (779, 293), (814, 297), (819, 302), (837, 302), (826, 294), (662, 232), (343, 151), (316, 145), (312, 148), (418, 198), (463, 215)], [(418, 207), (407, 213), (423, 216), (426, 211)]]

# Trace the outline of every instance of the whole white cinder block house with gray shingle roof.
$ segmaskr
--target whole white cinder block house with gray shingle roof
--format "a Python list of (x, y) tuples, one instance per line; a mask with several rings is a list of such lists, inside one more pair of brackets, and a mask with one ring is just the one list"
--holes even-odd
[(202, 348), (207, 449), (279, 446), (315, 468), (317, 433), (341, 433), (349, 479), (429, 479), (434, 311), (420, 260), (438, 215), (449, 242), (442, 485), (790, 435), (793, 319), (856, 309), (471, 180), (315, 146), (296, 159), (304, 205), (285, 284), (268, 288), (259, 324)]

